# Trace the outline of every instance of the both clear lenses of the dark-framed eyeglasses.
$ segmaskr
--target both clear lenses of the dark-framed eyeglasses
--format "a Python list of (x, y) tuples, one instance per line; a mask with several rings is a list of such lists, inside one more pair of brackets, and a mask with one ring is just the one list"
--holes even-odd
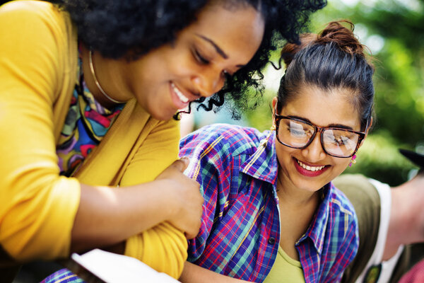
[[(305, 122), (283, 118), (278, 125), (278, 139), (281, 143), (295, 148), (302, 148), (310, 142), (315, 128)], [(327, 154), (334, 156), (351, 156), (355, 152), (359, 134), (343, 129), (324, 129), (322, 145)]]

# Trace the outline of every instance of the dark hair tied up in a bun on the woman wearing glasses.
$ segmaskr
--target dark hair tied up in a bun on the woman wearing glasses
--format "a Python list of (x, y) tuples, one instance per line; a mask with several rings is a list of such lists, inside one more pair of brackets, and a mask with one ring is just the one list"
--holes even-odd
[(318, 35), (305, 33), (300, 35), (300, 44), (283, 47), (281, 59), (287, 69), (278, 90), (277, 110), (297, 96), (303, 84), (324, 90), (344, 88), (350, 90), (349, 98), (360, 114), (361, 129), (369, 126), (374, 113), (374, 67), (353, 30), (350, 21), (334, 21)]

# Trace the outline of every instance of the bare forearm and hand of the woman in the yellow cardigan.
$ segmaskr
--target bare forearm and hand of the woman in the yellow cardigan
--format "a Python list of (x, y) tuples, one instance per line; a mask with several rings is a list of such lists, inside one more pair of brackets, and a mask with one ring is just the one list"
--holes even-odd
[[(81, 202), (72, 229), (73, 250), (81, 251), (117, 243), (178, 216), (182, 221), (184, 217), (189, 218), (184, 215), (184, 211), (191, 207), (194, 209), (191, 211), (192, 219), (189, 219), (193, 222), (190, 228), (196, 229), (200, 224), (201, 196), (182, 209), (187, 202), (184, 196), (189, 196), (189, 193), (196, 196), (192, 193), (192, 187), (196, 188), (194, 192), (199, 193), (199, 185), (188, 178), (185, 180), (182, 175), (186, 163), (188, 162), (175, 161), (164, 172), (175, 171), (175, 175), (180, 175), (177, 177), (181, 181), (167, 177), (118, 189), (81, 185)], [(179, 187), (175, 188), (177, 184)], [(181, 234), (185, 242), (184, 233)]]

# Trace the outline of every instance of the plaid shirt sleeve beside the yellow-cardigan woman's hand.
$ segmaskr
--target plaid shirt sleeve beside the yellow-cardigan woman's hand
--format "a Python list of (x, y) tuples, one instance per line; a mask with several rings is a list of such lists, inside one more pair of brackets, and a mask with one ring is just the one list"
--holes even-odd
[(195, 262), (201, 255), (206, 256), (206, 241), (214, 219), (223, 213), (230, 190), (232, 156), (229, 146), (225, 146), (225, 135), (219, 132), (216, 128), (197, 131), (184, 137), (179, 144), (179, 156), (190, 158), (185, 174), (199, 182), (205, 199), (199, 233), (189, 240), (190, 262)]

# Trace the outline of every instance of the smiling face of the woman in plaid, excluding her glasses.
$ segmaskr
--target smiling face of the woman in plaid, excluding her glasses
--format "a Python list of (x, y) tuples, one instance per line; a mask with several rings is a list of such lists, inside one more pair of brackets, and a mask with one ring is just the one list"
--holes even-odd
[[(297, 93), (277, 114), (298, 117), (319, 127), (360, 131), (359, 114), (345, 96), (348, 91), (323, 91), (315, 86), (302, 86)], [(276, 98), (273, 109), (275, 105)], [(316, 192), (346, 169), (351, 158), (329, 156), (322, 149), (320, 139), (321, 135), (317, 134), (305, 149), (291, 149), (276, 140), (278, 180), (283, 186)]]

